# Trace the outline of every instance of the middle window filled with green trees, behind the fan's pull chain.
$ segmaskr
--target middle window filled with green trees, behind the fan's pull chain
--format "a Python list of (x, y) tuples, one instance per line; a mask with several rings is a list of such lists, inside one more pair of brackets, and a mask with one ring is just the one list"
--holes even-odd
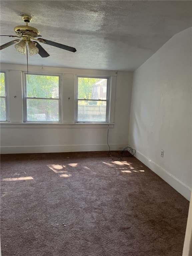
[(24, 121), (60, 122), (60, 76), (25, 74)]

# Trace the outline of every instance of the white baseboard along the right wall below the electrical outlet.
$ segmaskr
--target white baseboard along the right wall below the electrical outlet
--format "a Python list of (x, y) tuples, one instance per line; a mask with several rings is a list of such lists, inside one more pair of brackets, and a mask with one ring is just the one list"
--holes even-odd
[(159, 165), (152, 162), (139, 151), (136, 151), (134, 156), (148, 168), (150, 168), (154, 173), (156, 173), (159, 177), (161, 177), (165, 182), (167, 182), (171, 187), (173, 187), (177, 192), (184, 196), (188, 201), (190, 201), (191, 189), (189, 187), (168, 173), (166, 170), (162, 169)]

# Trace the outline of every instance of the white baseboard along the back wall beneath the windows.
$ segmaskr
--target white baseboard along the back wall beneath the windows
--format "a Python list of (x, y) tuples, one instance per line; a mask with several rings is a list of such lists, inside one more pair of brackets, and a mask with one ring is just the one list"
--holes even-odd
[[(110, 150), (122, 150), (127, 144), (110, 144)], [(121, 148), (121, 149), (120, 149)], [(82, 151), (109, 151), (108, 145), (51, 145), (51, 146), (10, 146), (1, 147), (1, 154), (57, 153)]]

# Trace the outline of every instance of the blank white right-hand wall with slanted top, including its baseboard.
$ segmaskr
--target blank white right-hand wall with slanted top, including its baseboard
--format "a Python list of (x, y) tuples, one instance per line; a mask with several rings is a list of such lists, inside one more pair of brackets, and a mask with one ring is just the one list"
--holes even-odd
[[(133, 75), (129, 145), (136, 157), (190, 199), (192, 28), (173, 36)], [(164, 150), (164, 157), (160, 156)]]

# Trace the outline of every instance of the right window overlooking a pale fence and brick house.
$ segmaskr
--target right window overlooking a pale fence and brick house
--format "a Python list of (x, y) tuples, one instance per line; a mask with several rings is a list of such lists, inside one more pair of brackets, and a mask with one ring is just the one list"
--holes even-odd
[(76, 122), (109, 122), (110, 77), (77, 76)]

